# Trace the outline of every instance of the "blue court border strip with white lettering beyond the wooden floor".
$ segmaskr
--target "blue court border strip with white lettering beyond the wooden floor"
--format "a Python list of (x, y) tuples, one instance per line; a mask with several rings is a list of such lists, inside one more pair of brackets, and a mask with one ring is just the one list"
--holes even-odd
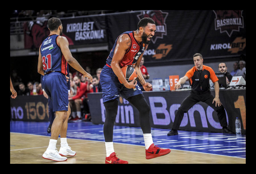
[[(10, 132), (50, 136), (48, 122), (10, 121)], [(162, 148), (246, 158), (246, 135), (192, 132), (178, 130), (178, 135), (167, 136), (167, 129), (151, 129), (153, 142)], [(92, 122), (69, 122), (67, 138), (104, 141), (103, 125)], [(113, 142), (144, 146), (140, 127), (114, 126)]]

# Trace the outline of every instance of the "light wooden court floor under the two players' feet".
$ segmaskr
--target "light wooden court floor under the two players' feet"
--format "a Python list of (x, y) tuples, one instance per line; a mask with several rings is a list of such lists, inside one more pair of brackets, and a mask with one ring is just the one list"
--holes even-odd
[[(106, 158), (103, 141), (67, 138), (69, 146), (77, 152), (67, 161), (56, 162), (42, 158), (49, 144), (49, 136), (10, 132), (11, 164), (104, 164)], [(60, 148), (60, 138), (57, 150)], [(153, 159), (145, 158), (145, 147), (114, 142), (118, 158), (129, 164), (245, 164), (245, 158), (173, 150), (165, 156)]]

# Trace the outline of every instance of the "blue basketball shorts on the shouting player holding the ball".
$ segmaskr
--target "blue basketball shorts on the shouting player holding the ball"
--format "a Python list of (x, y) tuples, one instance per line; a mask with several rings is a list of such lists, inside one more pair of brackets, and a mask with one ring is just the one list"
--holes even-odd
[(102, 87), (103, 103), (113, 99), (118, 100), (119, 95), (127, 100), (129, 97), (143, 94), (138, 84), (134, 88), (126, 88), (119, 82), (112, 68), (106, 65), (100, 73), (100, 84)]

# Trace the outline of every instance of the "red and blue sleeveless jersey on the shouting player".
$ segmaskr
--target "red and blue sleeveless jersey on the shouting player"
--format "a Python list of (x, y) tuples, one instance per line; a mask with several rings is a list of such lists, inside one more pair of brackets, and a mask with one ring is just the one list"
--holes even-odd
[[(125, 55), (123, 56), (123, 59), (119, 62), (119, 66), (120, 66), (120, 68), (125, 67), (126, 65), (131, 65), (131, 66), (134, 67), (138, 58), (139, 58), (139, 56), (144, 52), (146, 44), (145, 43), (139, 43), (134, 38), (134, 31), (124, 32), (124, 33), (120, 34), (117, 37), (117, 39), (123, 34), (127, 34), (131, 38), (131, 45), (130, 45), (129, 49), (127, 49), (127, 51), (125, 52)], [(113, 58), (113, 54), (114, 54), (114, 51), (115, 51), (117, 39), (115, 40), (113, 48), (110, 51), (110, 54), (109, 54), (108, 59), (106, 61), (107, 66), (109, 66), (109, 67), (110, 67), (110, 64), (111, 64), (111, 61), (112, 61), (112, 58)]]

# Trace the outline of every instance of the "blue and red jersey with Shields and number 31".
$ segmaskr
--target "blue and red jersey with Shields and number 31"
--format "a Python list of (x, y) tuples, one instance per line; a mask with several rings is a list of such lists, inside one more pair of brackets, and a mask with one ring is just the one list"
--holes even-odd
[(44, 74), (49, 72), (61, 72), (67, 75), (67, 61), (63, 56), (57, 38), (59, 35), (49, 35), (42, 43), (40, 52), (42, 55)]

